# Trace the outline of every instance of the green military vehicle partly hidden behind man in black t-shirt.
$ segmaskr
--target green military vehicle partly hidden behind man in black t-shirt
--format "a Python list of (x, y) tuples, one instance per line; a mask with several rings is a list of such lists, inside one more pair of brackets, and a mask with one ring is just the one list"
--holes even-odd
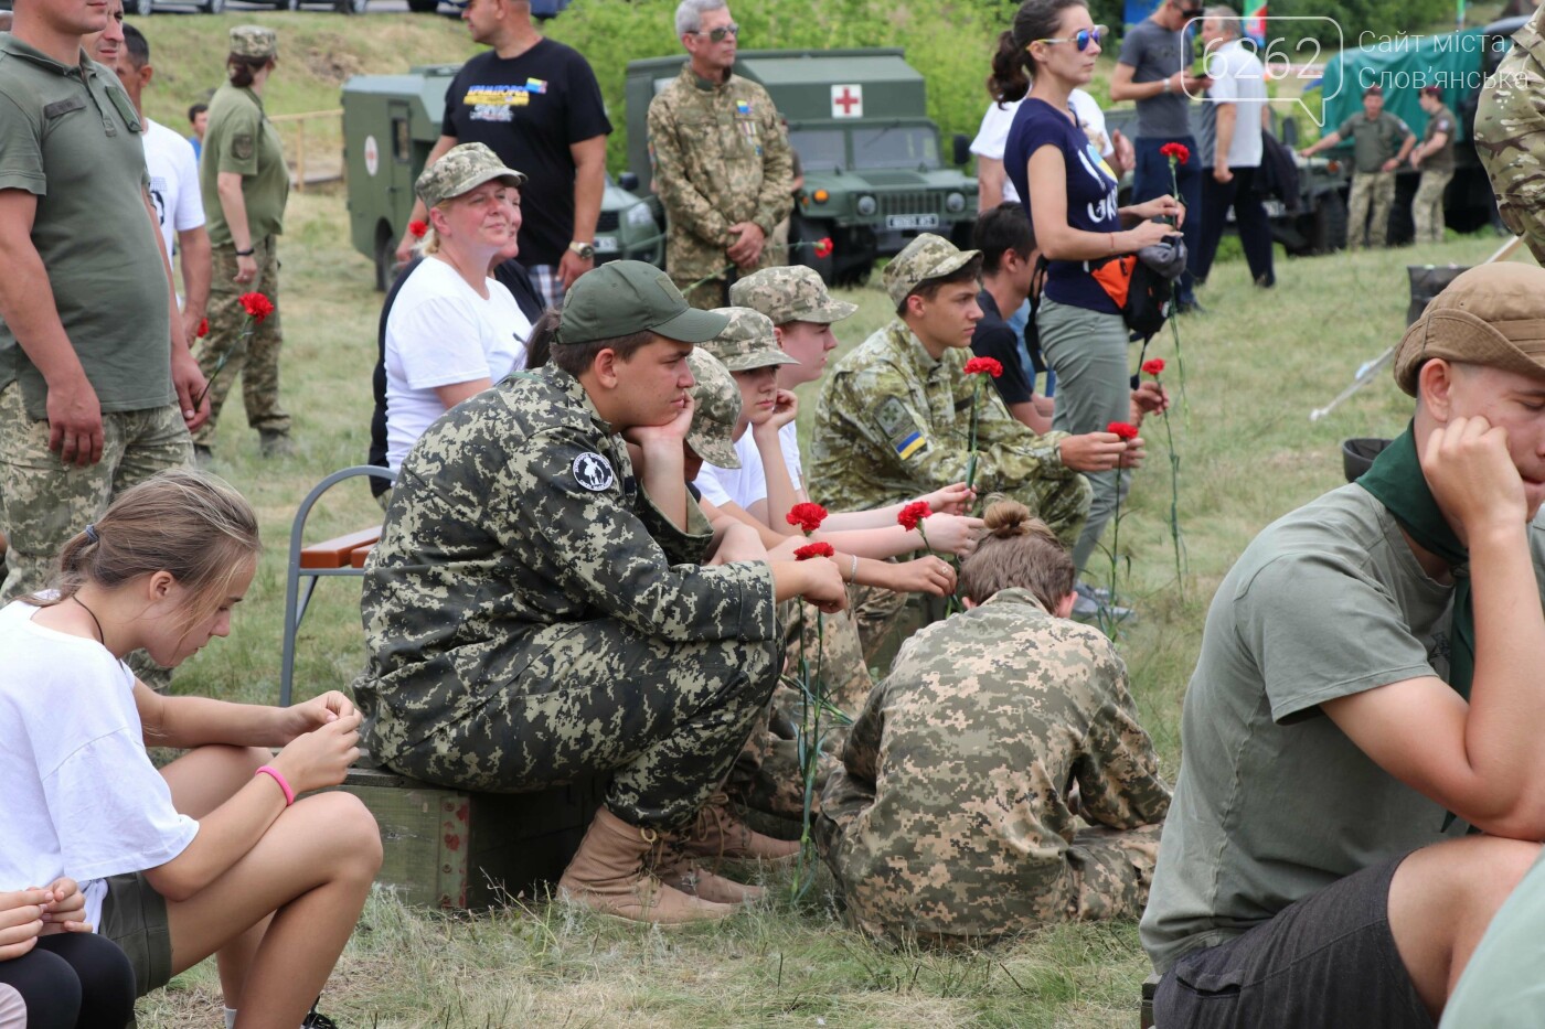
[[(413, 184), (440, 138), (445, 90), (460, 65), (420, 65), (400, 76), (343, 83), (343, 148), (354, 249), (375, 263), (375, 289), (392, 280), (397, 243), (413, 212)], [(596, 261), (661, 264), (664, 235), (649, 205), (610, 176), (601, 196)]]

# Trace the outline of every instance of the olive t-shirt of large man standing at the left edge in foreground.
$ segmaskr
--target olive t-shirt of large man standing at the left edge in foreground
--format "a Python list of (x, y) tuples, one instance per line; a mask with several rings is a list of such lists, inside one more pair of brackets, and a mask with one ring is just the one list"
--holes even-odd
[[(170, 283), (145, 209), (142, 127), (108, 68), (0, 34), (0, 190), (37, 198), (32, 246), (104, 411), (176, 402)], [(6, 273), (0, 269), (0, 275)], [(0, 320), (0, 386), (46, 417), (43, 375)]]

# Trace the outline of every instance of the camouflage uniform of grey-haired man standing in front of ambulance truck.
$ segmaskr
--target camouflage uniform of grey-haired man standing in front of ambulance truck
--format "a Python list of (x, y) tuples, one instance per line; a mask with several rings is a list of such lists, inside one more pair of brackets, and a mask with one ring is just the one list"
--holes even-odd
[(649, 153), (671, 226), (666, 270), (694, 307), (728, 300), (739, 273), (725, 272), (729, 226), (752, 221), (768, 236), (757, 267), (783, 260), (771, 238), (794, 207), (794, 179), (788, 138), (766, 90), (734, 74), (712, 83), (684, 65), (649, 104)]

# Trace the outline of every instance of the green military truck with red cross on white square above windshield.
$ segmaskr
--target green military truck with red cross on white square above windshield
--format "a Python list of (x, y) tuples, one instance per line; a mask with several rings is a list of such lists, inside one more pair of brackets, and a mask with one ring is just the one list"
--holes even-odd
[[(626, 182), (637, 181), (641, 195), (650, 187), (649, 102), (680, 74), (681, 62), (627, 65), (627, 162), (637, 178)], [(922, 74), (902, 49), (745, 49), (735, 74), (766, 88), (803, 165), (789, 241), (833, 241), (825, 256), (797, 247), (796, 261), (828, 283), (851, 283), (921, 232), (969, 243), (976, 179), (941, 161)], [(953, 164), (970, 159), (969, 145), (966, 136), (955, 138)], [(647, 195), (660, 213), (660, 201)]]

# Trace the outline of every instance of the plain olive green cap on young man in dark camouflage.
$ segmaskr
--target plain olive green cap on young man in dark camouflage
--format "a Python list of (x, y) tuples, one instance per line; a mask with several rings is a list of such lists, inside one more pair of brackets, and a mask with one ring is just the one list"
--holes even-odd
[(586, 272), (564, 295), (556, 346), (657, 332), (678, 343), (708, 343), (729, 318), (686, 303), (671, 277), (643, 261), (609, 261)]

